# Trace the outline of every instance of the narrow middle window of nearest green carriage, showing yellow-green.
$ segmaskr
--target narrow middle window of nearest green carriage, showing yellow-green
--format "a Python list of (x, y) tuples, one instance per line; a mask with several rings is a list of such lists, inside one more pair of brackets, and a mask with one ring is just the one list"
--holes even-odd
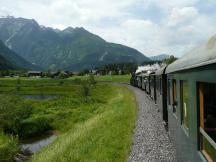
[(189, 114), (188, 114), (188, 105), (189, 105), (189, 88), (187, 81), (181, 81), (181, 120), (182, 125), (189, 129)]

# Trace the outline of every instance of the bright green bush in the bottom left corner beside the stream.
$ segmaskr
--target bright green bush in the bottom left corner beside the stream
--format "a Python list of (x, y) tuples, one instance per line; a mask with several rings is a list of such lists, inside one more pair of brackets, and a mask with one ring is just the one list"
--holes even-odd
[(6, 136), (0, 133), (0, 161), (11, 162), (13, 157), (19, 151), (18, 141), (12, 136)]

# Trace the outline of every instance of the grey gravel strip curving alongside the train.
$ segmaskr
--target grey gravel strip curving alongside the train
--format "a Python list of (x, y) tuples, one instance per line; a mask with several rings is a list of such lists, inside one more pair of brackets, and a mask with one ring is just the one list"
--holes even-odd
[(125, 85), (135, 95), (139, 106), (133, 146), (129, 162), (175, 162), (175, 152), (169, 140), (160, 112), (144, 91)]

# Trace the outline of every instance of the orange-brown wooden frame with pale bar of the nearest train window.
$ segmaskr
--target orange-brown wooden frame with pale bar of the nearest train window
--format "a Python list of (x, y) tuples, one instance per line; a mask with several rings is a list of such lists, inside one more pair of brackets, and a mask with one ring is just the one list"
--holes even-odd
[[(207, 161), (214, 161), (216, 159), (216, 156), (214, 156), (214, 153), (216, 152), (216, 141), (214, 141), (210, 135), (206, 132), (206, 129), (208, 130), (208, 126), (205, 125), (207, 123), (207, 119), (205, 119), (205, 109), (207, 111), (207, 108), (205, 108), (205, 95), (204, 95), (204, 86), (210, 86), (212, 83), (202, 82), (197, 84), (197, 97), (198, 97), (198, 144), (199, 144), (199, 151), (202, 153), (202, 155), (207, 159)], [(213, 83), (216, 88), (216, 83)], [(209, 87), (206, 87), (209, 88)], [(211, 150), (209, 150), (211, 148)], [(212, 150), (213, 149), (213, 150)], [(210, 151), (210, 153), (208, 153)], [(212, 154), (212, 155), (210, 155)]]

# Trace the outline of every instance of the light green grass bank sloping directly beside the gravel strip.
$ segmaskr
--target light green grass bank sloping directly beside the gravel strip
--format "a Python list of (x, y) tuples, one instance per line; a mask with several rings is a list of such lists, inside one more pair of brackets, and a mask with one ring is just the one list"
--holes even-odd
[(32, 162), (125, 161), (130, 150), (136, 104), (125, 88), (112, 89), (115, 95), (97, 113), (34, 155)]

